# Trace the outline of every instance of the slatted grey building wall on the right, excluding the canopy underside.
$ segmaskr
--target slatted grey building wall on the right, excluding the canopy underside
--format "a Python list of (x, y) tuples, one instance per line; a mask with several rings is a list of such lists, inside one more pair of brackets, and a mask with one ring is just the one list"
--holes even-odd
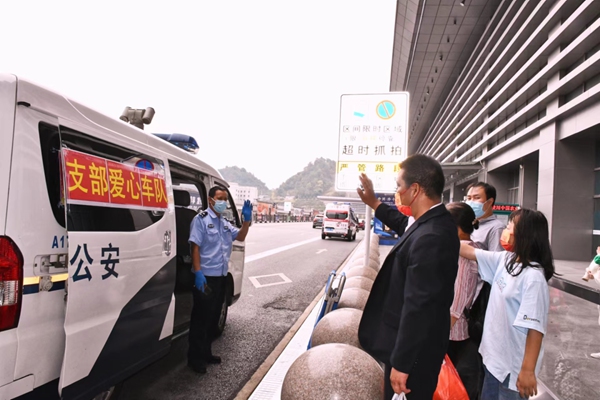
[[(510, 3), (510, 41), (479, 46), (489, 61), (461, 74), (487, 84), (450, 93), (436, 117), (446, 122), (417, 152), (481, 164), (471, 181), (494, 185), (497, 202), (544, 213), (556, 259), (589, 260), (600, 244), (600, 1)], [(468, 183), (449, 181), (447, 195), (461, 200)]]

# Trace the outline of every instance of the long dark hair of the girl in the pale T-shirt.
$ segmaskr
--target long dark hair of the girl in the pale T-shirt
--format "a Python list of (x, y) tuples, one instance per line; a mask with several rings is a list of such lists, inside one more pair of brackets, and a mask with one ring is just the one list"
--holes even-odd
[[(508, 222), (511, 221), (514, 226), (515, 244), (506, 270), (509, 274), (517, 276), (527, 267), (541, 268), (546, 280), (550, 280), (555, 271), (548, 220), (539, 211), (522, 208), (510, 214)], [(518, 266), (519, 263), (521, 267)]]

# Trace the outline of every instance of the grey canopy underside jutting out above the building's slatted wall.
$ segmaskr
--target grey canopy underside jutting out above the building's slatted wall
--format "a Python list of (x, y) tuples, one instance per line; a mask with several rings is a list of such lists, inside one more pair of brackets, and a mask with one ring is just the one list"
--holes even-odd
[(500, 0), (398, 0), (390, 91), (410, 93), (408, 152), (416, 152)]

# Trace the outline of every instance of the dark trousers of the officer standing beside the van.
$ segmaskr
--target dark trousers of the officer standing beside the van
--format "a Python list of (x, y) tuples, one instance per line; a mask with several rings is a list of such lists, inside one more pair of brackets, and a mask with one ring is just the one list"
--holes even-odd
[[(193, 288), (194, 307), (190, 321), (188, 364), (193, 367), (206, 366), (212, 357), (211, 344), (217, 330), (221, 306), (225, 299), (225, 276), (207, 276), (206, 293)], [(209, 293), (210, 292), (210, 293)]]

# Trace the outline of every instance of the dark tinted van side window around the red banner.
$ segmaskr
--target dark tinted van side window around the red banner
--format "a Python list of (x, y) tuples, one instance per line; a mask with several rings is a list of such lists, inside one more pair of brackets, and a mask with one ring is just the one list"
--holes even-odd
[[(68, 209), (68, 224), (65, 224), (65, 213), (60, 193), (59, 154), (61, 146), (59, 128), (40, 122), (38, 129), (48, 199), (56, 222), (63, 228), (66, 227), (71, 231), (139, 231), (162, 218), (164, 214), (162, 211), (71, 204)], [(60, 133), (63, 143), (73, 150), (119, 162), (131, 157), (153, 159), (153, 157), (133, 153), (131, 150), (120, 148), (63, 126), (60, 127)]]

